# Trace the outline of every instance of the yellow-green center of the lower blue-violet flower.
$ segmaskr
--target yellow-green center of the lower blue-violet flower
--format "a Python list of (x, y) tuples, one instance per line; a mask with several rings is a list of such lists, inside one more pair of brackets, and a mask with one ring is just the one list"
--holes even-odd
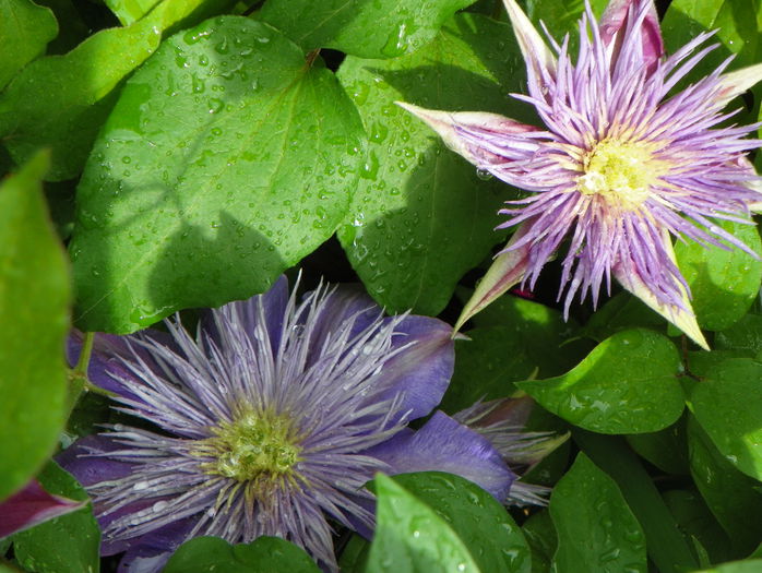
[(198, 453), (214, 457), (204, 464), (210, 475), (237, 481), (290, 476), (301, 447), (291, 420), (274, 413), (249, 411), (214, 430)]

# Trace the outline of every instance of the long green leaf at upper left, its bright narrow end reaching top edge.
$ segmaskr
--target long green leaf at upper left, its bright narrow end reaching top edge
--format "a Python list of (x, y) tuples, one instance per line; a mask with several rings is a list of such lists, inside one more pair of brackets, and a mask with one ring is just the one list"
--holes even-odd
[(47, 180), (79, 175), (118, 87), (158, 47), (163, 31), (226, 4), (165, 0), (128, 27), (100, 31), (66, 56), (39, 58), (24, 68), (0, 94), (0, 134), (13, 159), (23, 163), (49, 146)]

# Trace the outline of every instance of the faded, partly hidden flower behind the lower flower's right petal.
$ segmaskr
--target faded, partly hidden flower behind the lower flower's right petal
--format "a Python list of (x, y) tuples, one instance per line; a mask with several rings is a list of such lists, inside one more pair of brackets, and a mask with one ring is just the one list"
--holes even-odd
[(570, 435), (525, 431), (534, 404), (529, 396), (477, 401), (453, 415), (455, 420), (487, 438), (516, 474), (517, 480), (502, 500), (505, 505), (547, 505), (551, 488), (521, 481), (520, 474), (532, 469)]

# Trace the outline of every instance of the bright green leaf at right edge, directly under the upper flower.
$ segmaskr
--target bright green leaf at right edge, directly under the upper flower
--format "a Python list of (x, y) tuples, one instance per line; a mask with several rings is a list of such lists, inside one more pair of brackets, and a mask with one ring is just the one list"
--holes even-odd
[[(752, 251), (762, 252), (755, 226), (723, 222), (721, 227)], [(725, 330), (747, 313), (760, 290), (762, 261), (736, 247), (726, 250), (693, 241), (679, 241), (675, 254), (691, 288), (693, 310), (702, 329)]]

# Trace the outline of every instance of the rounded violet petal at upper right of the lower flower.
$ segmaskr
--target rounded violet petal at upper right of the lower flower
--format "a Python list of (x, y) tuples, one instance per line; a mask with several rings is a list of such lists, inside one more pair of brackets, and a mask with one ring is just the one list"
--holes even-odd
[[(390, 320), (390, 319), (388, 319)], [(410, 345), (383, 367), (378, 383), (388, 390), (373, 402), (402, 399), (409, 419), (429, 414), (442, 401), (455, 366), (452, 326), (428, 317), (406, 317), (394, 329), (393, 346)]]

